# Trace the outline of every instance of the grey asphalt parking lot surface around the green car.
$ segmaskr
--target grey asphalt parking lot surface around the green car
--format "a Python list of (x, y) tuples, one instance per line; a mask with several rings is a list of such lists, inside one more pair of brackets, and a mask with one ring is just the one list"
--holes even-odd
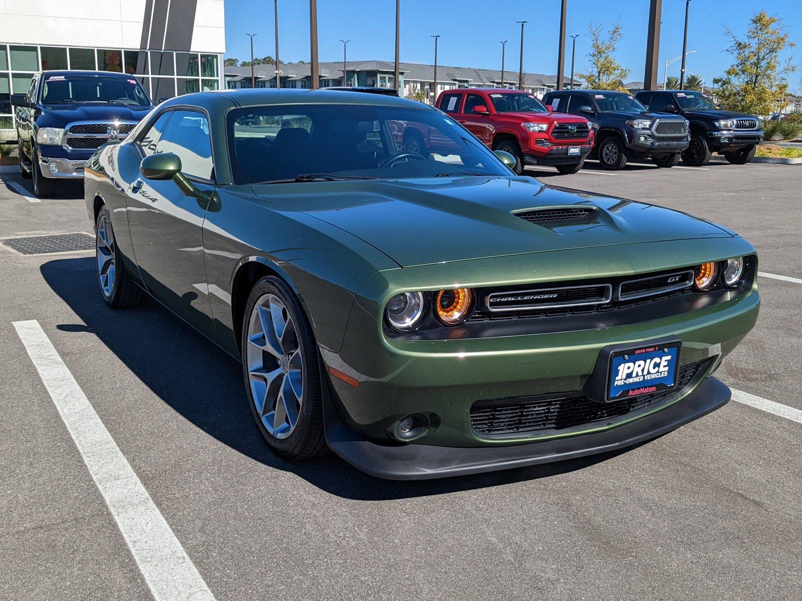
[[(763, 306), (717, 376), (741, 399), (802, 409), (802, 166), (528, 174), (691, 212), (750, 240), (767, 274)], [(31, 202), (20, 194), (30, 180), (2, 179), (0, 239), (91, 232), (81, 188)], [(386, 482), (334, 457), (270, 454), (239, 366), (154, 304), (107, 309), (94, 252), (0, 246), (0, 264), (2, 598), (152, 590), (87, 470), (97, 458), (79, 453), (13, 325), (35, 320), (208, 587), (192, 599), (800, 599), (792, 411), (731, 401), (623, 452)]]

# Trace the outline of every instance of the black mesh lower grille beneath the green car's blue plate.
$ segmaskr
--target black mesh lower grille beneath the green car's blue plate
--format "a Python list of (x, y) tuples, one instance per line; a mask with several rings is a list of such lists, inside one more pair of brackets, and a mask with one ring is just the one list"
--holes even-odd
[(643, 394), (611, 403), (599, 403), (580, 390), (571, 393), (477, 401), (471, 407), (471, 426), (483, 438), (524, 434), (543, 430), (565, 430), (614, 417), (627, 416), (658, 405), (694, 381), (705, 359), (679, 369), (677, 386), (659, 393)]

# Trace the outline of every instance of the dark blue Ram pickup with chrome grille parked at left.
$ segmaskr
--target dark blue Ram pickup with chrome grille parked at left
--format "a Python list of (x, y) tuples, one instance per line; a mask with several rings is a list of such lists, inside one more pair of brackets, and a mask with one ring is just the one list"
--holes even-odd
[(59, 179), (83, 178), (83, 166), (108, 141), (124, 139), (153, 108), (132, 75), (42, 71), (16, 107), (19, 168), (36, 196), (52, 196)]

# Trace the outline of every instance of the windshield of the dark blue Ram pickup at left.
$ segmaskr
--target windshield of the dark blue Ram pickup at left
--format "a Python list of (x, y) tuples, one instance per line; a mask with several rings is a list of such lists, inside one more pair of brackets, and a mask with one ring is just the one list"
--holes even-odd
[(150, 106), (150, 100), (133, 77), (103, 75), (44, 75), (42, 102), (115, 103)]

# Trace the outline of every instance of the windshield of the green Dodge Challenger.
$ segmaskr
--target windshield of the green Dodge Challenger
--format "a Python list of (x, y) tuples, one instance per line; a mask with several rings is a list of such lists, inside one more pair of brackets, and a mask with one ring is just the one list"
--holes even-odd
[(234, 181), (510, 175), (439, 111), (361, 104), (244, 107), (226, 123)]

